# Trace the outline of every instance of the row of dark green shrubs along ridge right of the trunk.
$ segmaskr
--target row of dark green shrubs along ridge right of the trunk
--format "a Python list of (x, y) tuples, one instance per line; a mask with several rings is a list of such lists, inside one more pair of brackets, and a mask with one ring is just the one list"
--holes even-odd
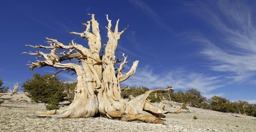
[[(166, 88), (171, 88), (171, 86)], [(147, 90), (149, 90), (147, 87), (132, 87), (128, 90), (123, 90), (122, 97), (130, 98), (130, 95), (137, 97), (137, 95), (145, 93)], [(207, 100), (206, 97), (201, 96), (201, 93), (196, 89), (189, 89), (185, 93), (181, 90), (178, 90), (176, 93), (174, 90), (170, 90), (165, 93), (157, 93), (156, 95), (151, 94), (148, 99), (150, 99), (151, 102), (158, 102), (161, 101), (161, 99), (167, 99), (183, 103), (182, 107), (186, 110), (188, 110), (186, 104), (190, 104), (191, 106), (212, 109), (214, 111), (243, 113), (256, 117), (256, 104), (249, 104), (248, 102), (241, 101), (240, 99), (238, 101), (231, 102), (228, 99), (217, 96), (213, 96), (211, 99)]]

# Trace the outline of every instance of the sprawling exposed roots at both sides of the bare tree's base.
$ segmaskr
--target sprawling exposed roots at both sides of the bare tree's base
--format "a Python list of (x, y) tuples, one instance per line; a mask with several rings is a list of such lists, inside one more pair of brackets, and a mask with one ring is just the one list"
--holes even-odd
[[(177, 109), (177, 111), (166, 111), (165, 106), (159, 105), (159, 107), (154, 106), (149, 101), (147, 101), (147, 97), (150, 93), (156, 93), (156, 92), (165, 92), (167, 90), (149, 90), (145, 94), (142, 94), (134, 99), (132, 99), (129, 102), (126, 102), (126, 110), (125, 111), (108, 111), (108, 113), (104, 113), (104, 117), (114, 119), (118, 118), (123, 121), (137, 121), (137, 122), (147, 122), (147, 123), (154, 123), (154, 124), (163, 124), (166, 125), (163, 121), (159, 120), (159, 117), (165, 118), (166, 116), (164, 114), (167, 113), (180, 113), (180, 109)], [(86, 105), (80, 105), (80, 106), (86, 106)], [(38, 117), (52, 117), (52, 118), (87, 118), (90, 115), (91, 117), (94, 117), (96, 114), (88, 114), (90, 113), (88, 110), (84, 109), (83, 114), (78, 114), (76, 109), (76, 106), (73, 106), (72, 104), (69, 106), (69, 108), (65, 110), (52, 110), (47, 112), (37, 112), (35, 113)], [(81, 108), (80, 108), (81, 109)], [(70, 114), (70, 112), (73, 114)], [(142, 114), (142, 111), (147, 111), (150, 114)], [(67, 114), (69, 113), (69, 114)], [(87, 113), (87, 114), (85, 114)], [(76, 116), (73, 116), (76, 115)], [(77, 116), (80, 115), (80, 116)]]

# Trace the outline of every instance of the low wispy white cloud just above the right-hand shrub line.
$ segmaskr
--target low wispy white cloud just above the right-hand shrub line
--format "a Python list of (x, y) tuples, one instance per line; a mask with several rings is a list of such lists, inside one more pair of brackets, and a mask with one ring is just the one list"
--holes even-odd
[(221, 85), (221, 82), (223, 82), (221, 76), (211, 77), (184, 69), (176, 69), (165, 73), (154, 73), (154, 70), (150, 66), (137, 68), (136, 73), (122, 82), (122, 85), (144, 86), (149, 89), (165, 88), (167, 86), (183, 90), (195, 88), (204, 94), (223, 86)]

